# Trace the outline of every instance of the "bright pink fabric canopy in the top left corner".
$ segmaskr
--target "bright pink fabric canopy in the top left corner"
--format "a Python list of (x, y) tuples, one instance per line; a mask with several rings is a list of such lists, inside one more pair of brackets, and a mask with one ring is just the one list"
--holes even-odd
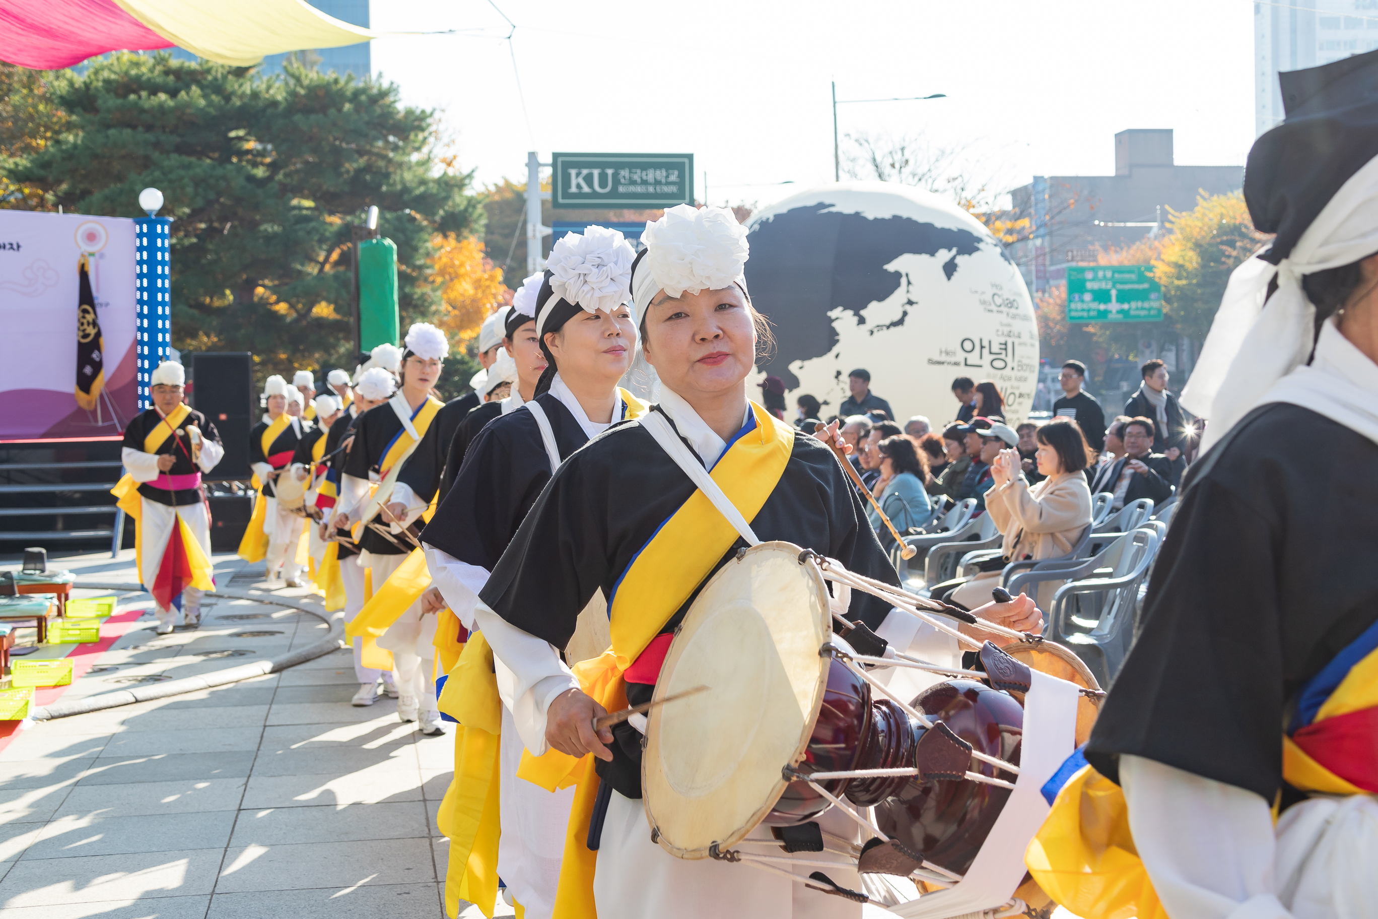
[(106, 51), (171, 47), (114, 0), (0, 0), (0, 61), (21, 68), (56, 70)]

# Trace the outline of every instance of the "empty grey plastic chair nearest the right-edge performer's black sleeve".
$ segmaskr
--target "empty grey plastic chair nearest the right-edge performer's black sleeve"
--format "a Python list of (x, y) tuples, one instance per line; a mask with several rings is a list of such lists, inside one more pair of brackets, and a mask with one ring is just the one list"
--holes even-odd
[[(1134, 643), (1138, 588), (1158, 555), (1156, 528), (1124, 533), (1060, 587), (1043, 631), (1071, 648), (1101, 686), (1109, 686)], [(1036, 575), (1035, 575), (1036, 576)]]

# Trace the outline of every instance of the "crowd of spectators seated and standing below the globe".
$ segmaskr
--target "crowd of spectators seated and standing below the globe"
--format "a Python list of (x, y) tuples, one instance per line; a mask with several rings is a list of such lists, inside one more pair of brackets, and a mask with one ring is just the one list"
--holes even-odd
[[(1119, 510), (1141, 497), (1162, 504), (1181, 484), (1196, 430), (1167, 389), (1163, 361), (1146, 361), (1141, 372), (1124, 413), (1109, 424), (1100, 401), (1083, 389), (1080, 361), (1062, 365), (1062, 397), (1046, 422), (1010, 427), (995, 382), (959, 376), (952, 380), (952, 422), (934, 430), (926, 416), (915, 415), (901, 428), (890, 404), (871, 391), (864, 368), (847, 376), (849, 395), (834, 419), (852, 445), (849, 460), (863, 488), (901, 533), (922, 530), (970, 497), (1005, 535), (1007, 558), (1051, 558), (1068, 551), (1068, 540), (1090, 524), (1093, 495), (1109, 492)], [(783, 417), (783, 380), (768, 376), (761, 387), (766, 406)], [(795, 409), (801, 430), (823, 424), (823, 405), (813, 395), (798, 395)], [(889, 528), (867, 496), (860, 497), (889, 547)], [(970, 591), (966, 597), (974, 598)]]

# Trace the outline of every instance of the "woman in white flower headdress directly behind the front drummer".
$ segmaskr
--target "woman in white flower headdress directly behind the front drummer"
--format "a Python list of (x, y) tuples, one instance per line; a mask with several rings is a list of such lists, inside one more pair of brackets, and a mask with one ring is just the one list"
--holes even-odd
[[(616, 230), (588, 227), (583, 234), (570, 233), (551, 249), (533, 317), (526, 318), (518, 309), (513, 310), (518, 317), (513, 320), (520, 322), (518, 329), (533, 325), (546, 357), (546, 371), (533, 398), (521, 411), (492, 419), (478, 433), (453, 488), (422, 533), (431, 575), (466, 628), (474, 626), (474, 603), (488, 572), (497, 564), (554, 468), (590, 438), (626, 417), (641, 415), (646, 408), (617, 387), (631, 366), (637, 343), (635, 324), (627, 307), (633, 258), (631, 245)], [(529, 288), (524, 285), (524, 289)], [(475, 409), (480, 411), (485, 409)], [(492, 411), (492, 404), (486, 411)], [(601, 610), (597, 613), (602, 616)], [(586, 656), (597, 656), (605, 643), (598, 643)], [(464, 679), (469, 677), (463, 671), (477, 677), (482, 688), (467, 686)], [(446, 699), (453, 696), (460, 705), (473, 704), (485, 694), (492, 699), (502, 693), (507, 672), (500, 660), (492, 659), (482, 635), (471, 637), (459, 667), (452, 671), (455, 688), (446, 683)], [(517, 778), (524, 748), (522, 737), (514, 727), (513, 707), (518, 700), (506, 693), (502, 697), (504, 705), (496, 718), (470, 718), (463, 710), (446, 712), (467, 726), (466, 747), (456, 752), (456, 762), (466, 765), (456, 766), (456, 781), (446, 803), (455, 813), (484, 813), (489, 827), (497, 817), (502, 828), (500, 838), (489, 827), (477, 831), (478, 839), (496, 839), (496, 851), (482, 846), (469, 847), (463, 836), (457, 840), (452, 838), (446, 902), (453, 905), (463, 890), (469, 893), (463, 898), (478, 897), (491, 904), (492, 894), (481, 890), (481, 879), (500, 875), (526, 916), (547, 918), (554, 915), (564, 831), (573, 792), (551, 794)], [(484, 732), (489, 736), (499, 734), (497, 759), (484, 762), (481, 770), (469, 763), (471, 748), (488, 744), (488, 737), (470, 733), (478, 725), (485, 725)], [(480, 774), (486, 781), (480, 780)], [(499, 783), (497, 814), (484, 810), (495, 778)], [(442, 823), (445, 825), (448, 823)], [(495, 856), (496, 865), (492, 861)]]

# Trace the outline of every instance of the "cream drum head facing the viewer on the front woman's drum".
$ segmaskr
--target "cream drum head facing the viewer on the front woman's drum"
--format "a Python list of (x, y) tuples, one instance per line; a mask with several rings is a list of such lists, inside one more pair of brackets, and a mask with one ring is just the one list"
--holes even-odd
[(823, 575), (801, 551), (762, 543), (728, 562), (670, 645), (655, 699), (710, 688), (648, 718), (646, 818), (672, 856), (707, 858), (744, 839), (784, 792), (780, 770), (803, 759), (832, 628)]

